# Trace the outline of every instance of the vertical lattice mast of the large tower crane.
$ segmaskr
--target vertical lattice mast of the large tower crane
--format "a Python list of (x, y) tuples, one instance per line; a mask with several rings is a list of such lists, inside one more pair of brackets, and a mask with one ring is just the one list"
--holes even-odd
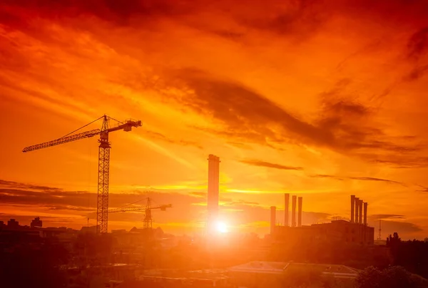
[(110, 143), (108, 143), (108, 118), (103, 120), (98, 148), (98, 201), (96, 209), (97, 232), (108, 232), (108, 178), (110, 174)]

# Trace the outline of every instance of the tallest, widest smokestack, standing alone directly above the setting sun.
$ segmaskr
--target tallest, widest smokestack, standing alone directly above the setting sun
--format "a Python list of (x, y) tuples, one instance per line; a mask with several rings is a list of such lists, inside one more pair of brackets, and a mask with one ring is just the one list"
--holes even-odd
[(218, 174), (220, 168), (220, 158), (215, 155), (208, 155), (208, 227), (215, 225), (218, 218)]

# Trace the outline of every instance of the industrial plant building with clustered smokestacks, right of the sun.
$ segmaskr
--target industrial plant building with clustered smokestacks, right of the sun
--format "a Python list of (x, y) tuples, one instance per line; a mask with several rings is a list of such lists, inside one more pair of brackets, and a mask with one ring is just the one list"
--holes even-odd
[[(291, 225), (288, 221), (290, 195), (285, 194), (284, 226), (275, 225), (275, 207), (271, 207), (270, 233), (275, 242), (295, 242), (305, 238), (340, 241), (360, 245), (374, 244), (374, 227), (367, 225), (367, 202), (351, 195), (350, 221), (333, 220), (330, 223), (302, 225), (302, 197), (292, 196)], [(297, 202), (297, 203), (296, 203)], [(296, 222), (297, 204), (297, 222)]]

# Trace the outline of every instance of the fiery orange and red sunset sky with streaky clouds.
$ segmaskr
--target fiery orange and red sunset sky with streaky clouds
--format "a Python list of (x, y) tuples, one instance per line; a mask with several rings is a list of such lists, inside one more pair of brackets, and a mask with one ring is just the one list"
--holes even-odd
[(110, 135), (110, 207), (172, 204), (165, 232), (203, 230), (214, 154), (233, 230), (281, 224), (285, 192), (304, 225), (357, 195), (376, 235), (423, 239), (427, 88), (428, 1), (4, 0), (0, 220), (96, 225), (96, 138), (21, 150), (106, 114), (143, 123)]

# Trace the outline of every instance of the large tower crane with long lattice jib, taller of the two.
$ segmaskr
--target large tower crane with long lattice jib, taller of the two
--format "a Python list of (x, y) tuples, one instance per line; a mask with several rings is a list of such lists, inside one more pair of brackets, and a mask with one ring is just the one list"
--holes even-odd
[[(84, 128), (101, 119), (103, 119), (101, 129), (76, 133), (78, 130), (81, 130), (81, 128)], [(118, 125), (116, 127), (109, 127), (109, 120), (115, 120), (116, 122), (118, 122)], [(124, 122), (121, 122), (114, 118), (108, 117), (107, 115), (103, 115), (100, 118), (93, 120), (91, 123), (88, 123), (61, 138), (26, 147), (24, 148), (24, 150), (22, 150), (22, 152), (26, 153), (42, 148), (48, 148), (54, 145), (80, 140), (83, 138), (90, 138), (95, 135), (100, 135), (100, 138), (98, 140), (98, 143), (100, 143), (100, 145), (98, 146), (98, 195), (96, 207), (96, 225), (97, 232), (106, 233), (108, 226), (108, 178), (110, 170), (111, 148), (111, 143), (108, 142), (108, 133), (118, 130), (129, 132), (133, 127), (137, 128), (139, 126), (141, 126), (141, 120), (125, 120)]]

